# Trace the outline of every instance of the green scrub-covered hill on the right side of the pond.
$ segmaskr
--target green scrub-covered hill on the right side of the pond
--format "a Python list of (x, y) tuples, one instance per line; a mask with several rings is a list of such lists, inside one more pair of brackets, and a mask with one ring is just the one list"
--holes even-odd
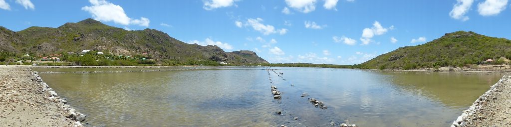
[(511, 40), (458, 31), (417, 46), (400, 47), (356, 68), (413, 69), (469, 66), (487, 59), (511, 59)]

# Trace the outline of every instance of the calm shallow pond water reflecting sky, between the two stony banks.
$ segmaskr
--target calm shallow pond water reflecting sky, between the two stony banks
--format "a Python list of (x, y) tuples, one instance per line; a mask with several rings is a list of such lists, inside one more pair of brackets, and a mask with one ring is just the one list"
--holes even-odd
[[(269, 68), (274, 70), (173, 67), (40, 75), (77, 111), (88, 115), (86, 123), (95, 126), (328, 126), (330, 121), (344, 120), (360, 126), (449, 126), (502, 77), (487, 72)], [(283, 92), (282, 99), (273, 99), (270, 85)], [(304, 92), (308, 96), (300, 97)], [(329, 108), (315, 108), (309, 97)]]

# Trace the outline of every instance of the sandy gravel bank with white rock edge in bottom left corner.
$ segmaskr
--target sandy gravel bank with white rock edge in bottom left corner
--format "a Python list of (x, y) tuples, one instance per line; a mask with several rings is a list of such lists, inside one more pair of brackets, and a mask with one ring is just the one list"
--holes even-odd
[(0, 66), (0, 126), (82, 126), (66, 103), (29, 66)]

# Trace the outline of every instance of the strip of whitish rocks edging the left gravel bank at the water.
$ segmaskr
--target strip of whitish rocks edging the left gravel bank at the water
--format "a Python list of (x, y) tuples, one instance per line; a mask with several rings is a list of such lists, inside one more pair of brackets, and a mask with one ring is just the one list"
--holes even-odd
[(30, 70), (30, 73), (34, 76), (34, 78), (31, 80), (40, 83), (43, 86), (41, 92), (47, 92), (49, 94), (47, 98), (57, 103), (58, 106), (66, 112), (65, 117), (71, 118), (71, 120), (75, 120), (76, 122), (73, 123), (74, 126), (82, 126), (81, 121), (84, 121), (87, 115), (77, 112), (76, 109), (67, 105), (66, 98), (58, 96), (55, 90), (50, 88), (50, 86), (48, 86), (46, 82), (42, 81), (41, 77), (38, 74), (39, 72)]

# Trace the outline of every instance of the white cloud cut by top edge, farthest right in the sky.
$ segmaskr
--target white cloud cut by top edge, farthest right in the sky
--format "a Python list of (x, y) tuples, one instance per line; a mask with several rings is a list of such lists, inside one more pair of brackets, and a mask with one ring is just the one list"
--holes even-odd
[(479, 3), (479, 14), (482, 16), (498, 15), (504, 11), (507, 6), (507, 0), (486, 0), (483, 3)]

